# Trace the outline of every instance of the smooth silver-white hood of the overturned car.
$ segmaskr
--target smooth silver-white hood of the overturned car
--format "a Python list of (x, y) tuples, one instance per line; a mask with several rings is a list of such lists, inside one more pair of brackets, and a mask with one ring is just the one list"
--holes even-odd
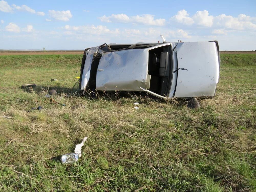
[(174, 97), (212, 97), (219, 81), (215, 42), (184, 42), (176, 47), (178, 68)]

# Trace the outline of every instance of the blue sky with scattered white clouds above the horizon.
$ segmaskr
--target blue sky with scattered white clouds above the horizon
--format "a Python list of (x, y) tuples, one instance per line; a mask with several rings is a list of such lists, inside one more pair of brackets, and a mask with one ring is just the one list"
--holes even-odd
[(159, 35), (255, 50), (256, 1), (0, 0), (0, 49), (83, 50)]

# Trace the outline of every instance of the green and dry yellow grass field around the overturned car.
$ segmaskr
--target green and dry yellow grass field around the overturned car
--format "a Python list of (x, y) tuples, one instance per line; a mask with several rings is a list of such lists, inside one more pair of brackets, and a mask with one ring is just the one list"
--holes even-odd
[[(0, 191), (256, 191), (255, 54), (222, 54), (216, 97), (194, 110), (175, 100), (67, 97), (81, 59), (0, 57)], [(44, 97), (51, 88), (66, 106)], [(76, 164), (54, 158), (85, 136)]]

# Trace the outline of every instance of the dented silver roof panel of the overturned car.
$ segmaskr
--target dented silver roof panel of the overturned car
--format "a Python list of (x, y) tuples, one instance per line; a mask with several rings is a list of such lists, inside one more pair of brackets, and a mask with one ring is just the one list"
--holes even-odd
[(97, 70), (96, 90), (143, 91), (148, 76), (148, 49), (103, 53)]

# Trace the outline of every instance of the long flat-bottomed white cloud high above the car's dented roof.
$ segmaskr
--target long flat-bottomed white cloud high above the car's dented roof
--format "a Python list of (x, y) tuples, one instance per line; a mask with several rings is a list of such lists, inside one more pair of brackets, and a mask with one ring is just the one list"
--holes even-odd
[(144, 25), (157, 25), (163, 26), (165, 24), (165, 19), (154, 19), (154, 15), (145, 14), (145, 15), (136, 15), (136, 16), (127, 16), (125, 14), (112, 14), (111, 16), (106, 17), (105, 15), (99, 17), (102, 22), (117, 22), (117, 23), (138, 23)]

